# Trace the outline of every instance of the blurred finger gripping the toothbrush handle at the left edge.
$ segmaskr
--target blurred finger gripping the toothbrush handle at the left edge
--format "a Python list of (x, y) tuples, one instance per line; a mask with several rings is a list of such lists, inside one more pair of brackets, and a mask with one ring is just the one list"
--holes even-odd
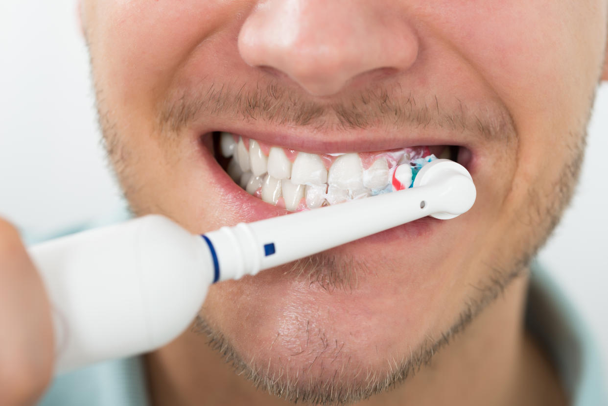
[(33, 404), (52, 377), (53, 359), (43, 282), (18, 231), (0, 219), (0, 405)]

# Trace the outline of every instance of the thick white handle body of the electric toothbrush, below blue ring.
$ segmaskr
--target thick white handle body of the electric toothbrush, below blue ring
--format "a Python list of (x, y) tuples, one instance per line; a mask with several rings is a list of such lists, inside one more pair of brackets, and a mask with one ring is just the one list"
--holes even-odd
[(28, 251), (52, 305), (57, 373), (165, 345), (192, 323), (213, 282), (201, 236), (160, 215)]

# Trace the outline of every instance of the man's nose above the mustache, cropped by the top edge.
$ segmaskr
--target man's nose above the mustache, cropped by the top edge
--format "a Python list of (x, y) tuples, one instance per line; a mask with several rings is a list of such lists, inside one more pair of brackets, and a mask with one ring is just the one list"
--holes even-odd
[[(405, 71), (418, 38), (392, 0), (267, 0), (238, 35), (241, 58), (275, 69), (315, 96), (339, 93), (373, 72)], [(367, 79), (366, 79), (367, 78)]]

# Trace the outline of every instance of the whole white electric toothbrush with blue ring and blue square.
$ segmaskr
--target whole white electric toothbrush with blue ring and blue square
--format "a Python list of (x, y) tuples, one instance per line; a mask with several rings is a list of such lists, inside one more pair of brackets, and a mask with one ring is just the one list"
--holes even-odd
[[(53, 309), (55, 371), (167, 344), (192, 323), (214, 282), (255, 275), (427, 215), (452, 219), (475, 197), (465, 167), (437, 159), (403, 191), (202, 236), (147, 215), (35, 245), (29, 254)], [(361, 217), (366, 221), (353, 225)]]

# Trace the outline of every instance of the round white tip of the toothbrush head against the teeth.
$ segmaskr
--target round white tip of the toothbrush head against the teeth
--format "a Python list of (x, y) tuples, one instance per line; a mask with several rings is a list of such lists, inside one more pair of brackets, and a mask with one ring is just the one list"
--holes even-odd
[(431, 217), (440, 220), (454, 219), (458, 215), (468, 211), (477, 197), (477, 191), (473, 178), (468, 170), (461, 164), (450, 159), (437, 159), (426, 164), (414, 180), (413, 187), (426, 186), (438, 182), (446, 183), (446, 194), (444, 198), (446, 206), (444, 211), (435, 212)]

